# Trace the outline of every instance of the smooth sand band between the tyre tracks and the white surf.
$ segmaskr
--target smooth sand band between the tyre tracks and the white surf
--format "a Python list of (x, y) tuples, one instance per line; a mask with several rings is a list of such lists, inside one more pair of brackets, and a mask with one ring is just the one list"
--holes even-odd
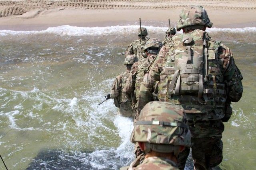
[[(1, 2), (1, 1), (0, 1)], [(256, 27), (256, 10), (205, 8), (213, 27)], [(182, 8), (173, 9), (36, 9), (22, 15), (0, 17), (0, 30), (41, 31), (48, 27), (70, 25), (78, 27), (106, 27), (143, 21), (166, 21), (176, 25)], [(156, 25), (157, 26), (157, 25)]]

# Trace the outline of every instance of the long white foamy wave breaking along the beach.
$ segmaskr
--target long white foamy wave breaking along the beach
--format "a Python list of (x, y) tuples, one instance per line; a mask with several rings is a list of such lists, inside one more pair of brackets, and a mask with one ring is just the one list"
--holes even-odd
[[(128, 35), (135, 33), (139, 25), (116, 25), (110, 27), (77, 27), (70, 25), (62, 25), (58, 27), (49, 27), (43, 31), (12, 31), (12, 30), (0, 30), (1, 36), (7, 35), (30, 35), (30, 34), (55, 34), (61, 36), (100, 36), (100, 35)], [(149, 33), (165, 32), (168, 27), (155, 27), (155, 26), (143, 26), (148, 29)], [(244, 28), (211, 28), (206, 29), (207, 32), (230, 32), (230, 33), (254, 33), (256, 27), (244, 27)], [(178, 31), (182, 33), (182, 31)]]

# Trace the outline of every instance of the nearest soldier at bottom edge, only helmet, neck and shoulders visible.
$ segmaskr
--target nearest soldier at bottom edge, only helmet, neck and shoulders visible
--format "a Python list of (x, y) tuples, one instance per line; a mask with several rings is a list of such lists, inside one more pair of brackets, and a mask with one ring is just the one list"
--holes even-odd
[(177, 157), (191, 147), (187, 117), (181, 106), (168, 102), (149, 102), (141, 110), (130, 141), (138, 142), (145, 159), (137, 158), (121, 170), (178, 170)]

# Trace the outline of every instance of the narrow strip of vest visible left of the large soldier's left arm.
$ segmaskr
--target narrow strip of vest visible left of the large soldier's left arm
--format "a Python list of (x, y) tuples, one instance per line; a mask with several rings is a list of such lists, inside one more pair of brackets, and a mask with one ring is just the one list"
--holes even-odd
[(146, 68), (152, 63), (156, 55), (150, 55), (147, 58), (143, 58), (138, 63), (137, 68), (137, 74), (136, 74), (136, 80), (135, 80), (135, 95), (136, 100), (138, 101), (139, 91), (140, 91), (140, 84), (143, 82), (144, 76), (145, 76), (145, 70)]

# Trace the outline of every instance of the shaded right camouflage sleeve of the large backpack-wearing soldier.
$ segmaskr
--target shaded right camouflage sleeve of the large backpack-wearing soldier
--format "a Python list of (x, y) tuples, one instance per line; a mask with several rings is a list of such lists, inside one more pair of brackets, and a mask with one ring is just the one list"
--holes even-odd
[(235, 64), (232, 51), (225, 45), (218, 49), (219, 59), (223, 62), (224, 81), (228, 84), (228, 100), (238, 102), (243, 94), (243, 76)]

